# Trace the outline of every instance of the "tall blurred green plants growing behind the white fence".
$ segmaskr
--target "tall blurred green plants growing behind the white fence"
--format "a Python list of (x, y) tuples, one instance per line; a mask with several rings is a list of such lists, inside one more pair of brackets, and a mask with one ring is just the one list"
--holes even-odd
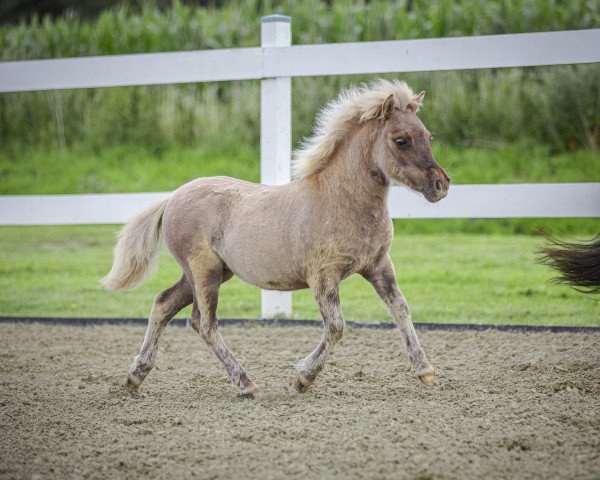
[[(220, 9), (176, 2), (169, 10), (145, 3), (93, 21), (71, 12), (2, 26), (0, 51), (2, 60), (24, 60), (254, 46), (260, 16), (273, 12), (292, 16), (293, 42), (300, 44), (595, 28), (599, 9), (586, 0), (251, 0)], [(526, 142), (564, 150), (600, 142), (598, 64), (386, 75), (397, 76), (428, 91), (423, 118), (449, 144)], [(372, 78), (295, 79), (294, 142), (309, 134), (318, 108), (340, 88)], [(0, 142), (258, 148), (258, 109), (255, 81), (2, 94)]]

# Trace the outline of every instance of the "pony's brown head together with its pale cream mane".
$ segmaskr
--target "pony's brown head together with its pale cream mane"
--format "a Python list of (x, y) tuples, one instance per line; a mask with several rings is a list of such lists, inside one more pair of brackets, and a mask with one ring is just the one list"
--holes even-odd
[(294, 176), (323, 170), (350, 132), (368, 123), (375, 127), (370, 155), (375, 167), (430, 202), (441, 200), (450, 177), (433, 158), (431, 134), (416, 115), (424, 96), (414, 95), (404, 82), (387, 80), (342, 91), (319, 113), (314, 135), (294, 152)]

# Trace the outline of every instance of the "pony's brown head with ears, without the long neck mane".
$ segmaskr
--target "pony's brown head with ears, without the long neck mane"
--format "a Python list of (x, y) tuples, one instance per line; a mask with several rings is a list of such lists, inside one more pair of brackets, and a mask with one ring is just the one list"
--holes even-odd
[(373, 161), (387, 177), (437, 202), (447, 195), (450, 177), (435, 161), (431, 133), (416, 115), (424, 96), (425, 92), (411, 92), (409, 101), (394, 93), (387, 96), (378, 114), (381, 128), (373, 146)]

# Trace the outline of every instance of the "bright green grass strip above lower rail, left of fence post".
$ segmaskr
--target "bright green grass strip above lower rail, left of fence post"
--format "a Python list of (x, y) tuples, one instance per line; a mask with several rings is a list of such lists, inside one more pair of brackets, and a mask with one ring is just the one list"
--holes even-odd
[(258, 153), (243, 148), (152, 151), (119, 145), (96, 153), (0, 150), (0, 195), (156, 192), (174, 190), (200, 176), (228, 175), (257, 182), (259, 170)]

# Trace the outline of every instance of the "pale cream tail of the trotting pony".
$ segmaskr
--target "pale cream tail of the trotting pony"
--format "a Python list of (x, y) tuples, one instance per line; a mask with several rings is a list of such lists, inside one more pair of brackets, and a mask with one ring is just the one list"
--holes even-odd
[(127, 290), (142, 283), (156, 266), (162, 216), (167, 200), (133, 217), (119, 232), (112, 269), (100, 280), (107, 290)]

